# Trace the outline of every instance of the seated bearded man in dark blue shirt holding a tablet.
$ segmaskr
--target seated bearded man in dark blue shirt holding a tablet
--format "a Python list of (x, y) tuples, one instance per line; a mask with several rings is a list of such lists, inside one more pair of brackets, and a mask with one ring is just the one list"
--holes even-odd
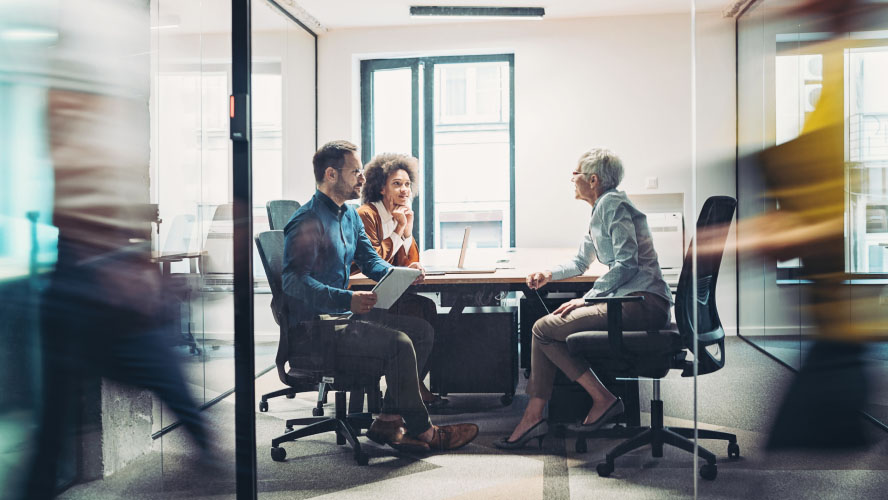
[(312, 164), (317, 191), (284, 228), (283, 287), (290, 325), (308, 326), (323, 315), (354, 314), (335, 334), (337, 366), (354, 373), (384, 374), (387, 386), (383, 413), (367, 437), (412, 450), (464, 446), (478, 435), (478, 426), (432, 425), (420, 396), (416, 367), (431, 354), (431, 325), (373, 310), (375, 293), (348, 289), (352, 262), (376, 281), (391, 267), (373, 249), (357, 211), (345, 204), (360, 197), (364, 185), (357, 147), (346, 141), (329, 142), (315, 153)]

